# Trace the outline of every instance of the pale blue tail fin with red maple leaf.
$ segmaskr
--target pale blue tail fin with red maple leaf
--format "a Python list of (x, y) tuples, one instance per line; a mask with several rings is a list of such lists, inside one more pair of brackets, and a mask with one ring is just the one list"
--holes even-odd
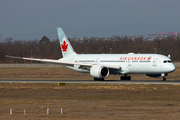
[(76, 55), (76, 52), (72, 48), (62, 28), (57, 27), (57, 32), (59, 36), (59, 42), (60, 42), (60, 47), (61, 47), (63, 57), (67, 57), (69, 55)]

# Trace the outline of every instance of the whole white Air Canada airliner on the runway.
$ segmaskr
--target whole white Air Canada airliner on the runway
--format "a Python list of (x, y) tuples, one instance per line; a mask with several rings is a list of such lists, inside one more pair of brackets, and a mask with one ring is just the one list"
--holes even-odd
[(77, 72), (90, 73), (94, 81), (103, 81), (109, 74), (123, 75), (120, 80), (131, 80), (129, 74), (146, 74), (162, 77), (165, 81), (168, 73), (176, 69), (170, 57), (161, 54), (77, 54), (62, 28), (57, 27), (57, 32), (63, 56), (61, 59), (6, 57), (61, 64)]

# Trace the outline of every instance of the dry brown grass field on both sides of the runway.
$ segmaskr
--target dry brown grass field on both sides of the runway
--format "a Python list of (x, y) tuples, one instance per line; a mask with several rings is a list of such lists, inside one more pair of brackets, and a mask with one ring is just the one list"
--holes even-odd
[[(176, 80), (179, 68), (169, 74)], [(0, 79), (78, 79), (91, 80), (89, 74), (66, 68), (0, 68)], [(118, 80), (119, 75), (110, 75)], [(150, 80), (132, 75), (133, 80)], [(159, 79), (155, 79), (159, 80)], [(50, 115), (47, 115), (47, 108)], [(61, 113), (63, 108), (63, 114)], [(9, 111), (13, 109), (13, 114)], [(24, 115), (24, 109), (26, 114)], [(179, 85), (132, 84), (0, 84), (1, 120), (177, 120), (180, 119)]]

